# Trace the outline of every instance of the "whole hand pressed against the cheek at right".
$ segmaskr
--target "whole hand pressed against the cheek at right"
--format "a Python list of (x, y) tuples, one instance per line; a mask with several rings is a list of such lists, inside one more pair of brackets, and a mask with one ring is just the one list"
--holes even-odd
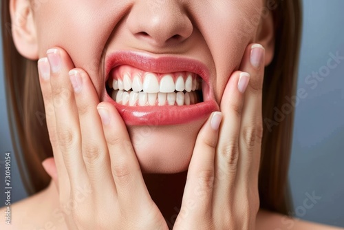
[[(197, 136), (173, 229), (255, 229), (265, 50), (255, 45), (251, 52), (251, 46), (241, 71), (234, 72), (226, 85), (222, 113), (213, 114)], [(245, 79), (250, 79), (246, 94)]]

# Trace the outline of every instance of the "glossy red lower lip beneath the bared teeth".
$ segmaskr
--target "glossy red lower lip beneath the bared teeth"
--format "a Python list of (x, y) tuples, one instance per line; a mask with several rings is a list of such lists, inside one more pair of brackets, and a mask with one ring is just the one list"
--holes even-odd
[(116, 107), (127, 125), (180, 125), (207, 118), (219, 111), (214, 100), (182, 106), (125, 106), (116, 103), (107, 93), (104, 101)]

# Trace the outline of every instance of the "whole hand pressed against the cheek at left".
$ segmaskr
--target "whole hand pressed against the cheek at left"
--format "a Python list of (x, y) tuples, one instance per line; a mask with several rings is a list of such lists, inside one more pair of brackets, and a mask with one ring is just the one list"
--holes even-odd
[(57, 175), (51, 160), (45, 167), (58, 180), (67, 227), (168, 229), (116, 109), (99, 104), (91, 79), (64, 50), (48, 50), (38, 66)]

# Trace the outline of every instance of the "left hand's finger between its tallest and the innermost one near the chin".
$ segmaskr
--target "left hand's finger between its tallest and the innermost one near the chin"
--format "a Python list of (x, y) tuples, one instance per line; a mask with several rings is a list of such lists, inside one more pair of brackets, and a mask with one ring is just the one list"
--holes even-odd
[(80, 69), (69, 72), (78, 108), (83, 150), (83, 160), (90, 183), (98, 194), (104, 185), (114, 185), (103, 125), (98, 115), (98, 95), (88, 74)]

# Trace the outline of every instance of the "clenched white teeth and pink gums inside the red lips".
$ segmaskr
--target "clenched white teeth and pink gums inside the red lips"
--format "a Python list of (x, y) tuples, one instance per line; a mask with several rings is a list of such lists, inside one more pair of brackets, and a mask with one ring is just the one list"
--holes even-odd
[(195, 105), (203, 102), (202, 78), (192, 72), (154, 73), (120, 65), (109, 74), (107, 93), (125, 106)]

